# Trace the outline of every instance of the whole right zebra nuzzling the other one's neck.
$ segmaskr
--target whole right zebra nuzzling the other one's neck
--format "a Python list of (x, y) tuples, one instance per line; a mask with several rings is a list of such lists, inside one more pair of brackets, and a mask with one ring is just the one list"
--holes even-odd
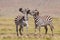
[(51, 16), (44, 16), (41, 17), (39, 15), (39, 11), (38, 10), (33, 10), (33, 11), (29, 11), (29, 14), (33, 16), (34, 18), (34, 22), (35, 22), (35, 32), (37, 30), (37, 28), (39, 28), (39, 33), (40, 33), (40, 28), (44, 27), (45, 28), (45, 34), (47, 34), (48, 28), (47, 26), (50, 26), (50, 29), (52, 31), (52, 35), (53, 35), (53, 29), (54, 26), (52, 25), (52, 17)]

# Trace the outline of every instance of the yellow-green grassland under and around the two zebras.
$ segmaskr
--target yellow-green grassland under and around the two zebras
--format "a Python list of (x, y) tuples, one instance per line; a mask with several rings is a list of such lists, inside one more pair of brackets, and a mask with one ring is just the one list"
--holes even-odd
[[(29, 36), (26, 36), (26, 28), (24, 28), (24, 36), (16, 36), (16, 28), (14, 18), (0, 18), (0, 40), (60, 40), (60, 18), (53, 18), (54, 36), (51, 36), (51, 31), (48, 26), (48, 34), (44, 35), (44, 28), (41, 28), (41, 36), (34, 36), (34, 21), (29, 17)], [(38, 30), (37, 30), (38, 33)]]

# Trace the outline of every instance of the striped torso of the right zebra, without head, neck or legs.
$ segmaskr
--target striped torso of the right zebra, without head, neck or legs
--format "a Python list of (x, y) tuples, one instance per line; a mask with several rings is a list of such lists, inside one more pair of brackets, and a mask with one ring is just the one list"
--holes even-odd
[(36, 16), (34, 18), (34, 20), (36, 21), (36, 24), (46, 25), (46, 24), (49, 24), (50, 22), (52, 22), (52, 17), (50, 17), (50, 16), (44, 16), (44, 17)]

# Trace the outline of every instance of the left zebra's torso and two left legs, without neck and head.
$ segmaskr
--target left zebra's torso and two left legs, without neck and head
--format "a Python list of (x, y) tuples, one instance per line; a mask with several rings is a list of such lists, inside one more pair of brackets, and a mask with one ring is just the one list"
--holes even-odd
[(15, 18), (14, 21), (15, 21), (15, 25), (16, 25), (17, 36), (19, 36), (19, 34), (18, 34), (18, 26), (20, 26), (19, 32), (20, 32), (20, 35), (22, 35), (22, 32), (21, 32), (21, 31), (23, 31), (23, 27), (27, 25), (27, 24), (25, 23), (24, 16), (18, 15), (18, 16)]

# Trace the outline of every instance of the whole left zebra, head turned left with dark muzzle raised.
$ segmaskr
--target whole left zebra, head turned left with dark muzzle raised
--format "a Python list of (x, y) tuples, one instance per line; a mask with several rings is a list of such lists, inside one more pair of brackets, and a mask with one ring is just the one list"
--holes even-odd
[(21, 30), (23, 30), (23, 25), (26, 26), (26, 31), (28, 32), (28, 12), (30, 10), (29, 9), (23, 9), (23, 8), (19, 8), (19, 12), (23, 13), (24, 15), (22, 17), (17, 16), (15, 18), (15, 24), (16, 24), (16, 32), (17, 32), (17, 36), (18, 36), (18, 25), (20, 25), (19, 31), (20, 31), (20, 35), (22, 35)]

